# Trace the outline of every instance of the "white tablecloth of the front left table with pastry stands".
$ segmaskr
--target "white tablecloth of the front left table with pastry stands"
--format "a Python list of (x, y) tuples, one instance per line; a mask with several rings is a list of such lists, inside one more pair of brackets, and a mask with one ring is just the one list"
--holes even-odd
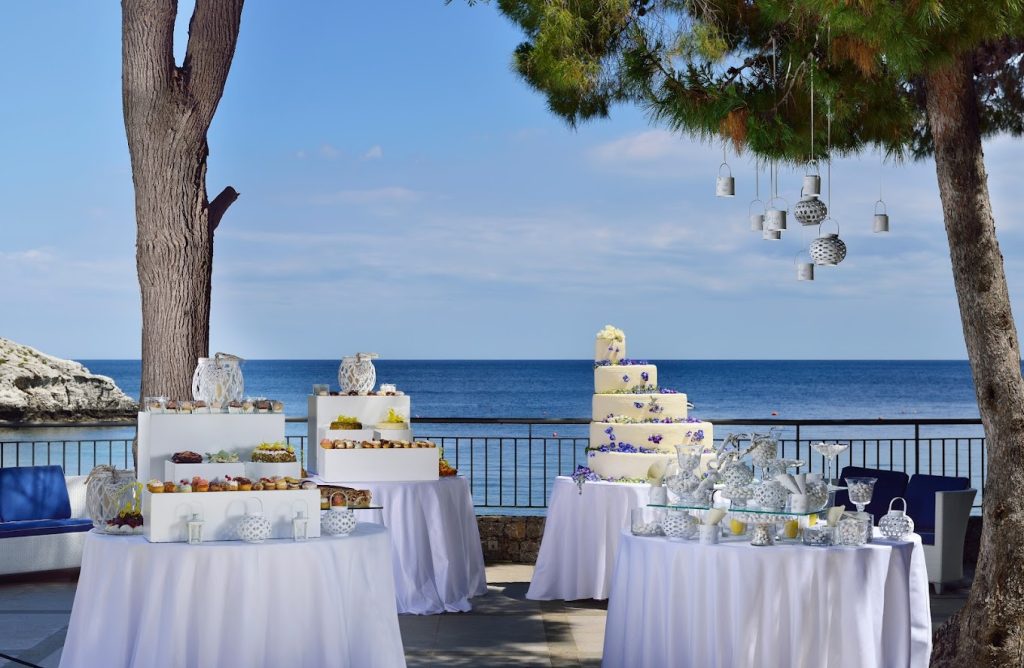
[(387, 531), (259, 545), (89, 533), (62, 668), (404, 666)]

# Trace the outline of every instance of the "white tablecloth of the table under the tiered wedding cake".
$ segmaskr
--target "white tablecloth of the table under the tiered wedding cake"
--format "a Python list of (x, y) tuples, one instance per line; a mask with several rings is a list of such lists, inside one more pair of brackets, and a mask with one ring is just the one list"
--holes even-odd
[(585, 483), (555, 478), (544, 538), (527, 598), (607, 598), (618, 538), (630, 526), (630, 510), (647, 505), (649, 487), (627, 483)]

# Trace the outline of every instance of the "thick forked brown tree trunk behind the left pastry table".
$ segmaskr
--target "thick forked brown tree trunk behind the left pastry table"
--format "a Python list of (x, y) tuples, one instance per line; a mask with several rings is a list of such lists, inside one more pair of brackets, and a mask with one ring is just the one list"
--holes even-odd
[(233, 198), (225, 200), (222, 193), (216, 207), (207, 200), (207, 131), (234, 54), (242, 4), (197, 0), (179, 68), (173, 55), (176, 0), (122, 0), (122, 94), (142, 296), (142, 396), (190, 396), (197, 360), (209, 354), (213, 232)]

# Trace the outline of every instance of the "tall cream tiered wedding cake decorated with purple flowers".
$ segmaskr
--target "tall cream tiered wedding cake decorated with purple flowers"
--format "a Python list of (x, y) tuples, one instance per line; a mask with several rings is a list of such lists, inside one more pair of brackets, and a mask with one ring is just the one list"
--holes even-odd
[(587, 465), (606, 479), (646, 479), (650, 465), (672, 461), (676, 446), (711, 450), (711, 422), (687, 417), (686, 394), (657, 385), (657, 367), (626, 357), (626, 335), (597, 333), (594, 407)]

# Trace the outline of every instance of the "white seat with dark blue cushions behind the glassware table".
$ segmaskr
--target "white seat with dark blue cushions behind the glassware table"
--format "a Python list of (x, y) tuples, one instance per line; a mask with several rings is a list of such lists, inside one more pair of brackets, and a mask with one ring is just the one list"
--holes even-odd
[[(921, 536), (925, 548), (925, 566), (928, 581), (936, 593), (942, 593), (946, 583), (964, 577), (964, 540), (971, 506), (978, 491), (971, 488), (966, 477), (926, 475), (878, 468), (846, 466), (840, 477), (877, 477), (874, 494), (866, 510), (878, 520), (889, 511), (889, 503), (896, 497), (906, 499), (906, 512), (913, 519), (914, 532)], [(846, 492), (836, 495), (837, 505), (853, 508)], [(898, 506), (897, 506), (898, 507)]]

